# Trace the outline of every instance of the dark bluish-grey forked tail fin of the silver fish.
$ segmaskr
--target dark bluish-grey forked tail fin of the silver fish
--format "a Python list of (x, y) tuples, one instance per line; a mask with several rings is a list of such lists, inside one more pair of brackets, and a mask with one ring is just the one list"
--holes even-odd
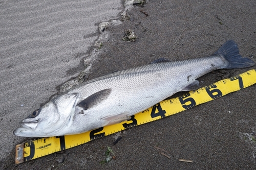
[(233, 40), (229, 40), (223, 44), (215, 55), (221, 55), (228, 62), (223, 68), (245, 68), (254, 65), (251, 59), (243, 58), (239, 55), (238, 45)]

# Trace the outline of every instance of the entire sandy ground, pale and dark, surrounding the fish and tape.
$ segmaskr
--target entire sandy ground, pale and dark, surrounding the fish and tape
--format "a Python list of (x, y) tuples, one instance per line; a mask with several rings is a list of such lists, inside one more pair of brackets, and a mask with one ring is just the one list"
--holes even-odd
[[(100, 22), (120, 20), (120, 1), (1, 3), (1, 148), (5, 169), (255, 169), (255, 85), (218, 100), (96, 139), (61, 154), (19, 165), (14, 147), (28, 138), (14, 136), (18, 122), (55, 94), (60, 85), (86, 69), (87, 79), (150, 63), (165, 57), (183, 60), (208, 56), (233, 39), (240, 54), (256, 56), (254, 1), (148, 1), (127, 13), (133, 21), (110, 26), (100, 33)], [(124, 30), (138, 39), (122, 41)], [(103, 36), (104, 35), (104, 36)], [(102, 42), (101, 48), (95, 42)], [(255, 69), (221, 70), (199, 79), (200, 87)], [(182, 94), (182, 93), (179, 93)], [(109, 163), (106, 147), (117, 156)], [(169, 152), (170, 159), (154, 147)], [(63, 163), (56, 160), (65, 158)], [(194, 163), (178, 159), (193, 160)]]

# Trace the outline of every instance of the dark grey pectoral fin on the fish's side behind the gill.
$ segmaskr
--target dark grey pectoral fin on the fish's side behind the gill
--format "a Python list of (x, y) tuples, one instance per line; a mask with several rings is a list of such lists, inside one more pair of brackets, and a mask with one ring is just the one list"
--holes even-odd
[(96, 106), (102, 101), (106, 100), (110, 95), (111, 91), (111, 88), (98, 91), (88, 96), (88, 98), (81, 101), (79, 104), (77, 104), (77, 106), (82, 107), (84, 110), (87, 110), (88, 108)]

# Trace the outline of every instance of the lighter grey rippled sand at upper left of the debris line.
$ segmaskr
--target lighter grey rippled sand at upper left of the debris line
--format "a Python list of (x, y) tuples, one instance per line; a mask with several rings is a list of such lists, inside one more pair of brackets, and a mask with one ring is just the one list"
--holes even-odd
[(117, 19), (122, 9), (120, 1), (2, 2), (2, 160), (24, 140), (12, 134), (18, 122), (79, 74), (99, 37), (99, 23)]

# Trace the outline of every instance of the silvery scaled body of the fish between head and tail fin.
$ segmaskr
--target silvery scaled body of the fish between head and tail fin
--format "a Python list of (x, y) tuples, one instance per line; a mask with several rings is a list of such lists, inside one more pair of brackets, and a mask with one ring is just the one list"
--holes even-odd
[[(215, 66), (212, 66), (212, 63)], [(112, 75), (98, 78), (97, 81), (89, 82), (70, 92), (80, 92), (83, 98), (107, 88), (113, 89), (112, 93), (108, 100), (102, 102), (100, 106), (84, 111), (83, 113), (88, 115), (86, 118), (84, 118), (83, 114), (78, 114), (70, 126), (72, 129), (69, 127), (69, 130), (73, 132), (80, 129), (78, 130), (80, 133), (111, 125), (107, 124), (108, 122), (95, 120), (120, 113), (127, 113), (125, 116), (128, 117), (132, 116), (168, 98), (177, 91), (181, 91), (183, 87), (194, 82), (196, 78), (223, 66), (223, 64), (224, 62), (219, 56), (211, 56), (183, 62), (155, 63), (122, 70)], [(195, 69), (197, 67), (200, 69)], [(189, 77), (190, 80), (188, 81), (187, 77), (189, 75), (191, 77)], [(95, 89), (91, 91), (92, 88)]]

